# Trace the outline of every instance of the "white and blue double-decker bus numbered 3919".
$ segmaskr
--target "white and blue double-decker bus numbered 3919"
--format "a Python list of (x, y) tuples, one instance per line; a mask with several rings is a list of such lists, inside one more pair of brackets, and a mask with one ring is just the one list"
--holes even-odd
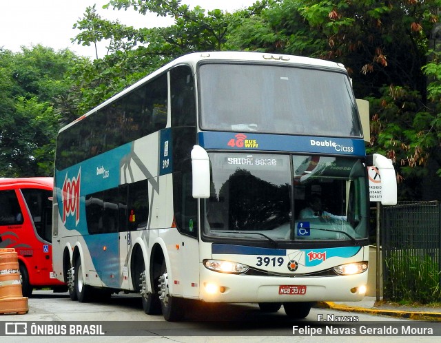
[[(54, 271), (72, 300), (139, 292), (170, 321), (190, 300), (292, 318), (362, 300), (373, 165), (393, 205), (343, 65), (187, 54), (60, 130)], [(300, 216), (312, 198), (322, 209)]]

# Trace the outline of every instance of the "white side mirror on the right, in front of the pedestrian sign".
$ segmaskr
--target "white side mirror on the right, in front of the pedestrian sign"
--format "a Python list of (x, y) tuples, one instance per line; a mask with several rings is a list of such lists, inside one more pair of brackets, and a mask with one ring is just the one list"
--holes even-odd
[(381, 204), (397, 205), (397, 178), (392, 161), (380, 154), (373, 154), (372, 164), (380, 173)]

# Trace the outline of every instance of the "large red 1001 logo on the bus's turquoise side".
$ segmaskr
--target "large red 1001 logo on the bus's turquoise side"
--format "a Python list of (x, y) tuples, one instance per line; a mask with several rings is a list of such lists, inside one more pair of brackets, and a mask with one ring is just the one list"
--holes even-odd
[(68, 173), (64, 178), (62, 201), (63, 201), (63, 224), (70, 215), (75, 215), (75, 225), (80, 221), (80, 179), (81, 168), (76, 178), (68, 178)]

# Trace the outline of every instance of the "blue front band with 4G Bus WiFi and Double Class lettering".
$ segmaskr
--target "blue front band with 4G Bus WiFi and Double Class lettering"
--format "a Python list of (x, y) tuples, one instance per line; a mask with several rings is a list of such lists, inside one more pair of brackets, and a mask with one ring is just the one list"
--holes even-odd
[(199, 132), (198, 142), (205, 149), (246, 149), (302, 152), (308, 154), (339, 154), (365, 156), (362, 138), (335, 138), (313, 136), (289, 136), (283, 134), (254, 134), (250, 132)]

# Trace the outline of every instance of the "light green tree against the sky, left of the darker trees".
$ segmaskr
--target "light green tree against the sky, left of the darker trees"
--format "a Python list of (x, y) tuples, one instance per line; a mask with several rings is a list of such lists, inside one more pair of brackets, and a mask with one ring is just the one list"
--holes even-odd
[[(258, 3), (247, 15), (265, 8), (267, 1)], [(134, 29), (118, 21), (101, 19), (94, 7), (87, 8), (84, 18), (74, 25), (81, 32), (73, 41), (83, 45), (103, 39), (109, 43), (108, 54), (91, 65), (76, 71), (77, 87), (82, 100), (79, 111), (88, 112), (102, 101), (132, 85), (143, 76), (178, 56), (195, 51), (221, 50), (230, 30), (240, 25), (242, 16), (221, 10), (205, 12), (200, 6), (190, 9), (180, 0), (111, 0), (105, 8), (147, 11), (174, 18), (174, 25), (165, 28)]]

